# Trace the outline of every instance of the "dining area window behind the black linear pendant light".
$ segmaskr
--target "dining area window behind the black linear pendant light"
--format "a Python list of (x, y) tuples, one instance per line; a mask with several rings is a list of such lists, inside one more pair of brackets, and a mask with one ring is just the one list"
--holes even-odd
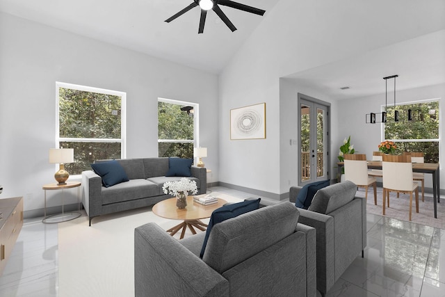
[(425, 162), (438, 163), (439, 101), (411, 102), (396, 106), (396, 110), (398, 122), (394, 122), (394, 106), (387, 107), (384, 138), (396, 143), (398, 153), (423, 152)]

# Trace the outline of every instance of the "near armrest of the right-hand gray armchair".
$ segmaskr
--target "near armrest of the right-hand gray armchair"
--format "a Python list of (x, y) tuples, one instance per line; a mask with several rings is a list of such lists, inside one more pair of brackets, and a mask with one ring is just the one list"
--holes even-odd
[(316, 262), (317, 262), (317, 289), (327, 292), (332, 287), (335, 277), (334, 264), (334, 218), (325, 214), (306, 209), (298, 209), (302, 223), (316, 230)]

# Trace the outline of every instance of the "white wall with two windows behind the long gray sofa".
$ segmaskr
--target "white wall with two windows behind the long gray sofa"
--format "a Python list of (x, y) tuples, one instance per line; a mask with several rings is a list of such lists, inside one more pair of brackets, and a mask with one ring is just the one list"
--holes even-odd
[(56, 81), (127, 93), (127, 158), (157, 156), (158, 97), (199, 103), (204, 162), (218, 179), (216, 75), (0, 14), (0, 198), (41, 209), (42, 185), (55, 182)]

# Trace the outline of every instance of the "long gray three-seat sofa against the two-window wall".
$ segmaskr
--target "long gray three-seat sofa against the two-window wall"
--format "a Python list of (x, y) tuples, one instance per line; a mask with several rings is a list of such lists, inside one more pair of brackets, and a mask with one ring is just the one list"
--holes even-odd
[[(101, 160), (95, 163), (108, 161)], [(146, 207), (171, 198), (165, 195), (162, 186), (165, 182), (181, 179), (166, 177), (169, 169), (168, 158), (119, 159), (128, 182), (115, 184), (108, 188), (102, 186), (102, 178), (92, 170), (82, 172), (83, 207), (90, 218), (118, 211)], [(206, 168), (191, 166), (191, 177), (197, 184), (198, 193), (207, 192)]]

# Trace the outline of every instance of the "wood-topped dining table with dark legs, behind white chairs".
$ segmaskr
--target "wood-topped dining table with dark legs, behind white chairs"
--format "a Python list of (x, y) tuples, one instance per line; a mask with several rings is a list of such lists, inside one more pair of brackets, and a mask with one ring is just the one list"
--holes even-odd
[[(366, 161), (369, 169), (382, 169), (382, 161)], [(341, 168), (344, 163), (337, 163), (338, 174), (341, 174)], [(439, 163), (412, 163), (412, 172), (430, 173), (432, 175), (432, 197), (434, 204), (434, 217), (437, 218), (437, 203), (440, 202), (440, 177)]]

